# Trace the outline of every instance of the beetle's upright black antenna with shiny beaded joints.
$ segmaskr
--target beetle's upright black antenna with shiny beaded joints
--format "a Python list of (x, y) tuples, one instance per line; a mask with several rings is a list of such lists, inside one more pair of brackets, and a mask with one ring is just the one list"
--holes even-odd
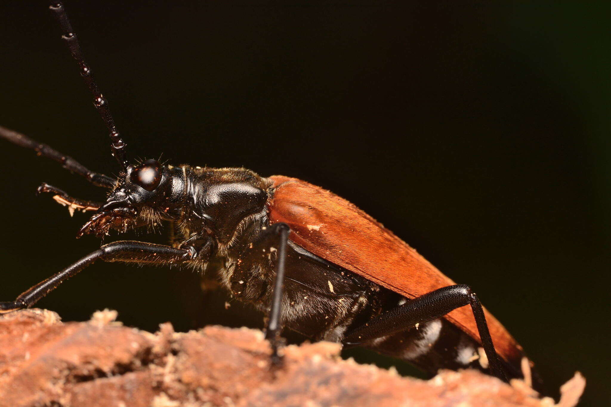
[(93, 80), (91, 68), (89, 68), (89, 65), (87, 65), (87, 63), (84, 61), (81, 46), (79, 45), (78, 38), (76, 38), (76, 34), (72, 29), (70, 20), (68, 20), (68, 15), (64, 9), (64, 4), (57, 1), (52, 1), (51, 5), (49, 5), (49, 9), (51, 9), (53, 14), (56, 16), (57, 22), (62, 28), (62, 40), (64, 40), (66, 45), (68, 45), (70, 53), (76, 59), (76, 62), (78, 62), (79, 67), (81, 67), (81, 76), (85, 80), (87, 87), (89, 87), (89, 91), (93, 95), (93, 106), (98, 109), (98, 113), (100, 113), (102, 120), (104, 120), (104, 123), (106, 123), (106, 127), (110, 132), (109, 135), (112, 140), (112, 156), (117, 159), (121, 168), (125, 170), (128, 165), (128, 162), (125, 159), (125, 143), (121, 139), (121, 136), (119, 135), (119, 132), (114, 124), (111, 110), (108, 108), (108, 101), (106, 101), (104, 96), (101, 94), (100, 90), (98, 89), (98, 85)]

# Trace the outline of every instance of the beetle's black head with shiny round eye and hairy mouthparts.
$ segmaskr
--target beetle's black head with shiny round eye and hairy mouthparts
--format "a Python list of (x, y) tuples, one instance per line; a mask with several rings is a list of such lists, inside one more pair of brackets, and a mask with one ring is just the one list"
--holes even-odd
[(179, 169), (152, 159), (136, 166), (128, 165), (106, 203), (82, 226), (77, 237), (83, 234), (100, 237), (111, 229), (126, 232), (172, 220), (170, 209), (174, 209), (175, 201), (180, 198), (172, 190), (181, 189), (183, 174), (176, 170)]

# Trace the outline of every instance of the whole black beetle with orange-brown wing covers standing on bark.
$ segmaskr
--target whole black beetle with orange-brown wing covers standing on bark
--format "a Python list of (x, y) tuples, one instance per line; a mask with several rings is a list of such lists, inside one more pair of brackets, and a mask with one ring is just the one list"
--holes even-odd
[(93, 212), (78, 237), (167, 222), (173, 241), (103, 245), (14, 301), (0, 302), (0, 312), (31, 307), (98, 260), (196, 270), (220, 264), (222, 286), (267, 312), (266, 339), (276, 364), (282, 361), (280, 330), (287, 326), (311, 339), (395, 356), (426, 372), (470, 366), (505, 381), (523, 376), (528, 359), (522, 348), (469, 286), (455, 284), (343, 198), (299, 179), (263, 178), (246, 168), (130, 162), (64, 5), (53, 2), (49, 8), (108, 127), (119, 177), (90, 171), (18, 132), (0, 127), (0, 136), (110, 191), (105, 202), (97, 202), (46, 183), (38, 187), (70, 211)]

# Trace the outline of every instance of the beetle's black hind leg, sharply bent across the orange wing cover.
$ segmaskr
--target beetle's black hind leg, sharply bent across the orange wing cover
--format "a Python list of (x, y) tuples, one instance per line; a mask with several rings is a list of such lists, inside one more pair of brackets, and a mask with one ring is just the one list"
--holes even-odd
[(425, 323), (442, 317), (456, 308), (471, 305), (475, 323), (480, 333), (481, 345), (488, 357), (489, 369), (498, 378), (507, 381), (499, 357), (494, 350), (492, 338), (488, 331), (488, 324), (481, 307), (480, 300), (469, 286), (456, 285), (443, 287), (425, 295), (409, 300), (407, 303), (390, 309), (378, 317), (359, 326), (346, 334), (343, 339), (345, 345), (354, 346), (382, 336), (411, 330), (417, 323)]

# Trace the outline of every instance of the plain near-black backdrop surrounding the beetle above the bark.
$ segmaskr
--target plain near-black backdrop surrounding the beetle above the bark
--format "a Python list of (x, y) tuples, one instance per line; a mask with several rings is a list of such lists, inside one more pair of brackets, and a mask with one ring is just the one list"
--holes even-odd
[[(58, 27), (14, 3), (0, 9), (0, 123), (113, 173)], [(123, 3), (67, 6), (131, 157), (348, 198), (472, 285), (551, 387), (580, 370), (584, 405), (609, 401), (609, 7)], [(39, 182), (104, 192), (7, 143), (0, 159), (12, 300), (99, 245), (73, 238), (86, 216), (35, 198)], [(117, 309), (147, 330), (261, 325), (223, 295), (189, 271), (96, 264), (39, 305), (64, 320)]]

